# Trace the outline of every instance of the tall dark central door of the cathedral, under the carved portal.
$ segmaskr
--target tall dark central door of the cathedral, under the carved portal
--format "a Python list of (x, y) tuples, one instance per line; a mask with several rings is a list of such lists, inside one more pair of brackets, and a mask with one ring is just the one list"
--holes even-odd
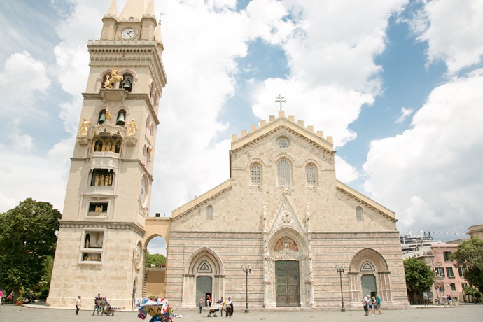
[(298, 262), (295, 260), (278, 260), (275, 262), (276, 306), (300, 306), (300, 274)]

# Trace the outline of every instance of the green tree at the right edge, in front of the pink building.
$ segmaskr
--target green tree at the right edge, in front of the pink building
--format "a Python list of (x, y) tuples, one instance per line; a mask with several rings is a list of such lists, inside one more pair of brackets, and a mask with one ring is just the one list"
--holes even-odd
[(458, 249), (451, 253), (454, 267), (463, 269), (465, 280), (483, 292), (483, 240), (471, 237), (458, 245)]

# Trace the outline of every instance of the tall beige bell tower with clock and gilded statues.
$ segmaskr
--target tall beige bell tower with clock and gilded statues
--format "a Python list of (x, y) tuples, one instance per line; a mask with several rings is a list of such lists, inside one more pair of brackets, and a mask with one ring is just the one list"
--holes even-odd
[(144, 227), (153, 182), (158, 103), (167, 83), (153, 0), (116, 0), (99, 40), (71, 158), (47, 303), (98, 293), (130, 309), (144, 279)]

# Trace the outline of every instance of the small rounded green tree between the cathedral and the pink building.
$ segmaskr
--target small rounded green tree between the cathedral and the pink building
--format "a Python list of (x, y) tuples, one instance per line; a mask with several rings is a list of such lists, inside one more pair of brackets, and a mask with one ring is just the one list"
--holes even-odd
[(431, 269), (426, 262), (418, 260), (417, 258), (404, 260), (404, 270), (406, 275), (406, 285), (411, 297), (416, 290), (421, 292), (423, 290), (428, 290), (435, 281), (433, 269)]

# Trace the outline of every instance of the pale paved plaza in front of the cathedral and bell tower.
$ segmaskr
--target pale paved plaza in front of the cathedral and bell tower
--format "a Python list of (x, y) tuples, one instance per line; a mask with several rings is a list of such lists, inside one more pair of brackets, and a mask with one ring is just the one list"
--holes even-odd
[[(203, 312), (197, 311), (177, 311), (176, 314), (186, 315), (180, 318), (174, 318), (174, 322), (215, 322), (221, 319), (226, 320), (223, 316), (207, 317)], [(363, 309), (359, 311), (284, 311), (284, 312), (267, 312), (267, 311), (250, 311), (244, 314), (243, 311), (235, 311), (230, 322), (236, 321), (261, 321), (261, 322), (284, 322), (284, 321), (482, 321), (483, 305), (462, 304), (460, 307), (410, 307), (408, 309), (398, 310), (382, 310), (383, 314), (375, 316), (364, 316)], [(48, 308), (41, 304), (25, 305), (16, 307), (15, 305), (2, 305), (0, 312), (0, 321), (22, 321), (22, 322), (50, 322), (50, 321), (77, 321), (77, 322), (99, 322), (99, 321), (116, 321), (116, 322), (137, 322), (141, 321), (137, 317), (136, 312), (117, 312), (114, 316), (92, 316), (92, 309), (84, 307), (79, 315), (72, 309), (54, 309)], [(144, 320), (149, 321), (149, 318)]]

